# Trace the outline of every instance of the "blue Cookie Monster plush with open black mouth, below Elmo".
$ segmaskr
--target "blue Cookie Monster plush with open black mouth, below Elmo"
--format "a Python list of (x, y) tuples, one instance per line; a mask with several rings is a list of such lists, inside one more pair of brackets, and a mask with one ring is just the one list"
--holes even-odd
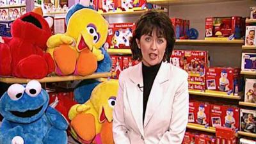
[(12, 84), (0, 99), (0, 144), (67, 144), (67, 121), (38, 81)]

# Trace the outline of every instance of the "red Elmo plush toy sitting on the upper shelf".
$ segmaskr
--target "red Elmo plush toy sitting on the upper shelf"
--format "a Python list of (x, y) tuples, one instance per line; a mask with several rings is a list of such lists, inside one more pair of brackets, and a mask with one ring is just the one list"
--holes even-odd
[(22, 15), (12, 23), (11, 33), (12, 38), (0, 43), (0, 76), (41, 79), (54, 71), (51, 55), (44, 52), (51, 29), (42, 15)]

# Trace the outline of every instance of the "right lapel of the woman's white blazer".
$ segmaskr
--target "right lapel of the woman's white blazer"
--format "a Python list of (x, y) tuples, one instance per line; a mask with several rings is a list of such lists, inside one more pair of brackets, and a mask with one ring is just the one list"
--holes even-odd
[(150, 95), (148, 97), (147, 109), (145, 113), (144, 127), (147, 126), (148, 122), (152, 118), (153, 114), (157, 110), (157, 107), (161, 103), (164, 97), (163, 83), (169, 80), (170, 65), (168, 63), (162, 63), (157, 76), (152, 85)]

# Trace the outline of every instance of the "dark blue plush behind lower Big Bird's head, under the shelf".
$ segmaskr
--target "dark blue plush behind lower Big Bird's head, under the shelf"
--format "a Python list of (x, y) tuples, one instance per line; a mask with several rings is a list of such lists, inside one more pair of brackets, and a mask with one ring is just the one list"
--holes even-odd
[(76, 102), (84, 104), (84, 102), (90, 99), (93, 88), (99, 83), (100, 81), (97, 81), (96, 79), (85, 79), (77, 84), (74, 90), (74, 99)]

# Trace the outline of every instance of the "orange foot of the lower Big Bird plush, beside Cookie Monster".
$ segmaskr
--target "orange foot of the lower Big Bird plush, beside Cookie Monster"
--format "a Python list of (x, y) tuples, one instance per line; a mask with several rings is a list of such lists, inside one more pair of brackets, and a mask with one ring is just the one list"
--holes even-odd
[(81, 143), (91, 143), (95, 138), (95, 118), (91, 114), (80, 113), (76, 115), (72, 119), (70, 127), (72, 132), (76, 133), (76, 139)]

